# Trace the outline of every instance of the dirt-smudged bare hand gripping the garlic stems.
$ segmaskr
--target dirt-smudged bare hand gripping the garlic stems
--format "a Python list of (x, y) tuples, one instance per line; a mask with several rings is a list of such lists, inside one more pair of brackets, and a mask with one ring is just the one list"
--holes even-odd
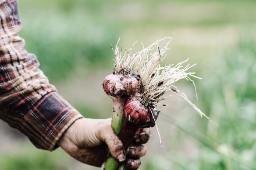
[(75, 121), (58, 141), (58, 145), (76, 160), (92, 166), (101, 167), (106, 160), (107, 149), (118, 162), (124, 162), (128, 169), (137, 169), (139, 157), (146, 154), (146, 143), (149, 140), (149, 128), (139, 129), (134, 138), (136, 146), (124, 149), (121, 140), (111, 128), (111, 118), (81, 118)]

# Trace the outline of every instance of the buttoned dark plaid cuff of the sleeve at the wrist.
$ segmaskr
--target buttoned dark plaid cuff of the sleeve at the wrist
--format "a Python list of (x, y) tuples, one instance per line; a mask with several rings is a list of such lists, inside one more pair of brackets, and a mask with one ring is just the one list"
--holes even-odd
[(39, 149), (53, 151), (61, 135), (83, 116), (57, 92), (42, 97), (25, 114), (20, 131)]

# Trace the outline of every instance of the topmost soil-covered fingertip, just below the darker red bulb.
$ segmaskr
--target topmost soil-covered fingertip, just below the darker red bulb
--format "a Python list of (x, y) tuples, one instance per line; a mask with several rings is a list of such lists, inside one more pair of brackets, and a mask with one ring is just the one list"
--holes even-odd
[(135, 144), (145, 144), (149, 141), (151, 130), (150, 128), (141, 128), (139, 133), (136, 132), (133, 142)]

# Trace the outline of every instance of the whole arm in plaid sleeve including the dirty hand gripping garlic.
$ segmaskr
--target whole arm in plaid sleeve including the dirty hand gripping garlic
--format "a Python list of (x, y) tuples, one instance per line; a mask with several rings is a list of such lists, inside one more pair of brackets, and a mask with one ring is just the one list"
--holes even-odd
[(116, 160), (124, 161), (127, 153), (135, 159), (126, 164), (138, 168), (146, 146), (137, 146), (142, 150), (139, 153), (132, 148), (125, 153), (110, 119), (83, 118), (57, 94), (39, 69), (36, 56), (24, 49), (20, 30), (17, 0), (0, 0), (0, 119), (28, 136), (39, 149), (52, 151), (60, 146), (75, 159), (100, 166), (107, 144)]

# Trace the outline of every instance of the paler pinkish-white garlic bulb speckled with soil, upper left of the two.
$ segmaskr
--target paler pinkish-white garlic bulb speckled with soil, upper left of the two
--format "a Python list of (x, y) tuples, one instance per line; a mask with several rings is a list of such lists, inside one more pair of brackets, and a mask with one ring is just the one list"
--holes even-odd
[(128, 98), (139, 91), (141, 80), (139, 74), (108, 75), (103, 81), (103, 89), (107, 95), (116, 98)]

